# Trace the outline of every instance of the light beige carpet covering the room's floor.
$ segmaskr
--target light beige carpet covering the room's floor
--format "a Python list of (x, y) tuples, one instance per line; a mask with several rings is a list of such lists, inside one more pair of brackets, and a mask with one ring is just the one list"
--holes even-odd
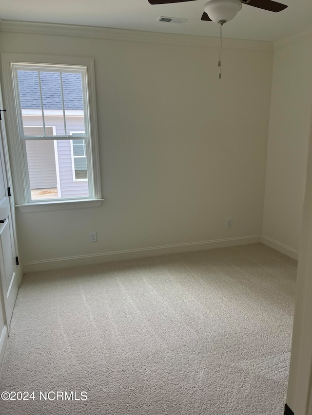
[(281, 415), (295, 275), (262, 244), (26, 274), (0, 389), (35, 400), (0, 414)]

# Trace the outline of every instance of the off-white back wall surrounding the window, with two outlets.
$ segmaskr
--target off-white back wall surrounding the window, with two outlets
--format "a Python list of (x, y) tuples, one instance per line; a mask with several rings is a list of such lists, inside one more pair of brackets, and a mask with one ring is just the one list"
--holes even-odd
[(1, 33), (2, 53), (96, 67), (104, 202), (17, 211), (23, 263), (261, 235), (273, 52), (237, 41), (219, 80), (218, 48), (187, 43)]

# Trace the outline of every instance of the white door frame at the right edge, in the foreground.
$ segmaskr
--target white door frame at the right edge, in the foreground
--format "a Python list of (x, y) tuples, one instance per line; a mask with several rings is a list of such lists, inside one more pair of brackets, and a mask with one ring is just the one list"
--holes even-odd
[(312, 116), (299, 244), (292, 354), (287, 405), (295, 415), (312, 415)]

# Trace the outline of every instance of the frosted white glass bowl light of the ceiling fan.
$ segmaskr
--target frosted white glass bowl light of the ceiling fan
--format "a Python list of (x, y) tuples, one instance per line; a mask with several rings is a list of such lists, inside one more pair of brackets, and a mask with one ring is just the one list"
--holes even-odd
[(241, 8), (240, 0), (209, 0), (204, 5), (205, 12), (215, 23), (232, 20)]

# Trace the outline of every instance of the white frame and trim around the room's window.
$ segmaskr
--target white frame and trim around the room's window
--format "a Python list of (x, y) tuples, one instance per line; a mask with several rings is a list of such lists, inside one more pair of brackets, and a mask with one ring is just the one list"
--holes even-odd
[[(17, 207), (21, 212), (40, 212), (59, 209), (73, 209), (81, 207), (100, 206), (101, 198), (101, 184), (100, 184), (100, 166), (99, 166), (99, 151), (98, 151), (98, 128), (97, 128), (97, 109), (95, 96), (95, 74), (94, 74), (94, 59), (81, 57), (65, 57), (65, 56), (48, 56), (48, 55), (29, 55), (29, 54), (1, 54), (2, 73), (4, 82), (4, 98), (8, 114), (8, 136), (10, 142), (10, 154), (12, 160), (12, 176), (15, 187), (15, 198)], [(13, 70), (15, 65), (31, 64), (38, 68), (40, 65), (45, 68), (45, 65), (59, 65), (83, 68), (87, 74), (87, 85), (84, 93), (86, 94), (86, 102), (89, 111), (85, 110), (85, 118), (87, 124), (90, 126), (90, 145), (86, 143), (89, 151), (88, 163), (88, 180), (93, 194), (89, 193), (88, 198), (64, 198), (53, 200), (30, 200), (29, 199), (29, 180), (27, 177), (27, 166), (25, 166), (25, 149), (21, 140), (21, 133), (19, 125), (22, 125), (18, 120), (20, 108), (17, 107), (16, 91), (14, 91)], [(87, 108), (85, 108), (87, 109)], [(63, 139), (70, 139), (69, 136), (64, 136)], [(36, 139), (36, 137), (34, 137)], [(37, 138), (38, 139), (38, 138)], [(58, 140), (59, 136), (51, 137), (52, 140)], [(25, 142), (24, 142), (25, 143)], [(89, 187), (90, 188), (90, 187)]]

